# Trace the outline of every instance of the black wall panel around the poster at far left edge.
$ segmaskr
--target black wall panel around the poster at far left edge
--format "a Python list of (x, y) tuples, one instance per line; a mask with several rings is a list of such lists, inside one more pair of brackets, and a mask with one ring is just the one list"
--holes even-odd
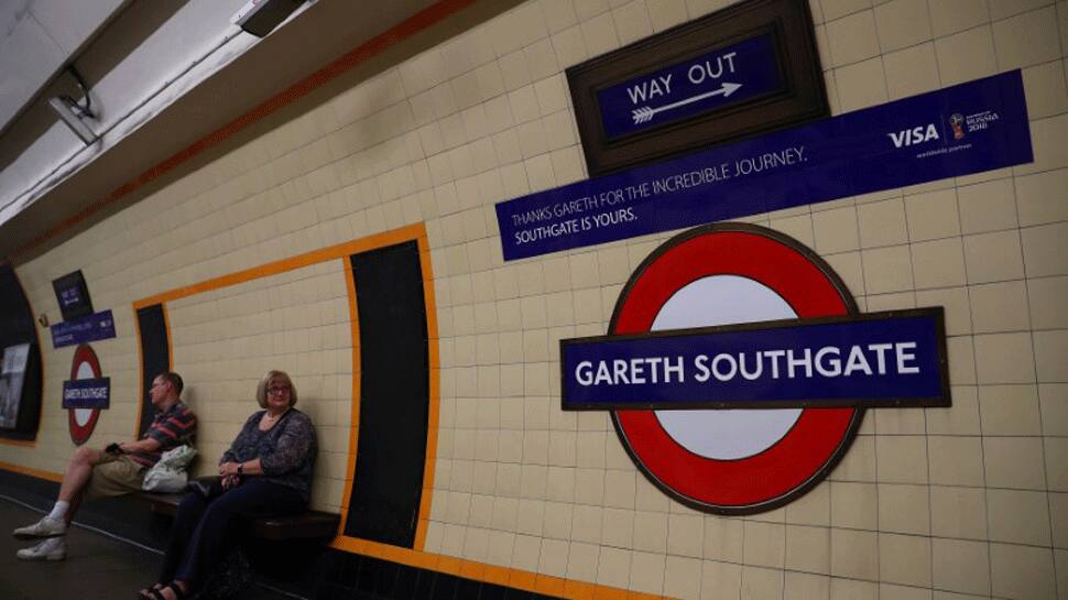
[(30, 301), (10, 264), (0, 264), (0, 359), (3, 349), (20, 343), (30, 345), (25, 379), (22, 383), (22, 404), (15, 427), (0, 429), (0, 437), (8, 439), (35, 439), (41, 421), (41, 348), (37, 347), (36, 324), (30, 309)]

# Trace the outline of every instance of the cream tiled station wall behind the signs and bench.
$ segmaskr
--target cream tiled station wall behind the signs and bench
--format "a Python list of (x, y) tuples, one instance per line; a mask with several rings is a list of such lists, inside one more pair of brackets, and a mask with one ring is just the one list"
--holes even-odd
[[(729, 3), (532, 0), (20, 265), (37, 312), (56, 313), (51, 280), (79, 268), (116, 310), (94, 440), (133, 430), (131, 302), (422, 220), (442, 366), (427, 552), (679, 599), (1068, 599), (1068, 2), (811, 0), (835, 113), (1023, 68), (1033, 164), (751, 219), (814, 248), (862, 309), (945, 306), (952, 408), (870, 411), (825, 482), (744, 519), (668, 500), (604, 414), (558, 410), (557, 341), (603, 334), (671, 233), (504, 264), (493, 204), (585, 177), (566, 67)], [(247, 315), (222, 295), (176, 303), (207, 454), (269, 367), (294, 372), (320, 427), (346, 423), (347, 350), (304, 359), (301, 329), (323, 324), (291, 303), (335, 302), (334, 285), (250, 284)], [(0, 460), (63, 469), (70, 354), (44, 354), (37, 445)], [(316, 502), (336, 506), (341, 467), (320, 465)]]

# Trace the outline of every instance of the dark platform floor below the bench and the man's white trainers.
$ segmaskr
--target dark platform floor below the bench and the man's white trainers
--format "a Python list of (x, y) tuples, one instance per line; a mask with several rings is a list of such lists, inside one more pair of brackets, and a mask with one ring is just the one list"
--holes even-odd
[[(149, 548), (102, 533), (75, 526), (67, 533), (67, 559), (25, 563), (15, 552), (33, 545), (11, 536), (11, 531), (41, 519), (41, 513), (0, 499), (0, 599), (3, 600), (115, 600), (133, 599), (152, 583), (163, 557)], [(241, 600), (299, 598), (262, 585), (249, 588)]]

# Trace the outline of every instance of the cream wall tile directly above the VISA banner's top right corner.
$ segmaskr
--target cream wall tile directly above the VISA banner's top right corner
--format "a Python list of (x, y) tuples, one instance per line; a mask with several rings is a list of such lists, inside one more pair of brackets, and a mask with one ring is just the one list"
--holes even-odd
[(1054, 7), (995, 21), (998, 68), (1009, 70), (1061, 58), (1057, 11)]

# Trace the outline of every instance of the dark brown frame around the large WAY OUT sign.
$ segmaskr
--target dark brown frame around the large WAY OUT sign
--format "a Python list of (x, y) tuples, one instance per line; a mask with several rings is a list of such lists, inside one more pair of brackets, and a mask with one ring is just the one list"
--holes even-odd
[[(771, 32), (784, 85), (775, 91), (609, 141), (597, 92), (671, 64)], [(567, 69), (590, 176), (830, 114), (806, 0), (748, 0)]]

